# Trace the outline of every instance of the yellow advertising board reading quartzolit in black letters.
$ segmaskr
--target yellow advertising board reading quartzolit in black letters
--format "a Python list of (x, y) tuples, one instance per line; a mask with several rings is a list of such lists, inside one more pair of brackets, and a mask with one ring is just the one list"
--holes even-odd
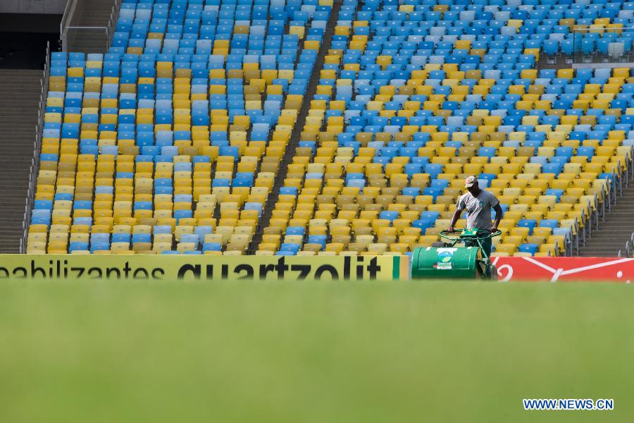
[(195, 257), (192, 255), (0, 255), (0, 280), (368, 281), (409, 278), (400, 256)]

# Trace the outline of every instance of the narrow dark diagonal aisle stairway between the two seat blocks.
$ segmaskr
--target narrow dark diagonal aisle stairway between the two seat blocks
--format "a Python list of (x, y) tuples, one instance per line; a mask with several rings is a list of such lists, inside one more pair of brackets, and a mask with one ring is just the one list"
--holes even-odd
[(304, 124), (306, 123), (306, 116), (308, 116), (309, 110), (311, 108), (310, 100), (313, 98), (317, 91), (317, 85), (320, 78), (319, 71), (323, 69), (324, 58), (326, 54), (328, 54), (328, 49), (330, 49), (330, 42), (332, 41), (332, 35), (335, 33), (335, 25), (337, 25), (337, 17), (339, 16), (340, 9), (341, 1), (335, 0), (332, 4), (332, 13), (330, 14), (330, 20), (328, 21), (328, 26), (326, 27), (325, 34), (323, 36), (323, 44), (321, 44), (321, 47), (319, 49), (313, 75), (311, 75), (309, 86), (306, 90), (306, 94), (304, 95), (304, 103), (302, 104), (302, 109), (299, 111), (297, 123), (295, 124), (295, 128), (291, 135), (286, 153), (284, 154), (284, 158), (282, 159), (281, 170), (278, 173), (277, 178), (275, 178), (273, 192), (268, 198), (266, 207), (263, 210), (261, 224), (258, 228), (258, 231), (256, 231), (256, 233), (254, 234), (253, 240), (251, 240), (251, 245), (248, 250), (249, 255), (255, 254), (255, 252), (258, 250), (258, 245), (262, 240), (263, 228), (268, 227), (269, 222), (271, 221), (271, 214), (273, 214), (275, 204), (277, 204), (278, 202), (278, 197), (280, 196), (280, 188), (282, 188), (282, 185), (286, 178), (288, 165), (290, 165), (293, 161), (295, 149), (299, 145), (299, 137), (302, 134), (302, 128), (304, 128)]

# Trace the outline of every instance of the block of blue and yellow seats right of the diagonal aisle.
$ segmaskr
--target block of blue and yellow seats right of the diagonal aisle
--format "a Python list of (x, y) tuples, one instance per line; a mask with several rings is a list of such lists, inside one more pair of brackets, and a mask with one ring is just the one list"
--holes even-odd
[(566, 252), (630, 159), (630, 72), (538, 72), (528, 11), (455, 3), (344, 3), (260, 254), (428, 246), (470, 174), (506, 211), (496, 255)]

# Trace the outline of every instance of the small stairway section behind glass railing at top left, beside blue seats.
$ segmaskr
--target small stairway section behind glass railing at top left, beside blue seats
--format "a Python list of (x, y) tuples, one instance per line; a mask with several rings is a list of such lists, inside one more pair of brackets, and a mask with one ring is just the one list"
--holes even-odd
[[(114, 0), (90, 0), (83, 2), (84, 9), (79, 18), (77, 26), (81, 27), (106, 27), (110, 20)], [(104, 53), (106, 51), (106, 32), (97, 30), (84, 30), (75, 35), (71, 42), (70, 51), (81, 51), (83, 53)]]

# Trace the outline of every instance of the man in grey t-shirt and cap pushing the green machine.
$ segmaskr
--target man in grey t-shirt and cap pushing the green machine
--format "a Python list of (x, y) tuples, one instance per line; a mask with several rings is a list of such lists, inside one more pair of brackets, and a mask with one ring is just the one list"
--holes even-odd
[[(460, 219), (460, 215), (466, 209), (467, 211), (467, 229), (480, 229), (490, 232), (496, 232), (499, 221), (502, 220), (504, 212), (499, 205), (499, 200), (491, 192), (485, 191), (478, 185), (478, 179), (475, 176), (468, 176), (464, 180), (464, 188), (468, 192), (461, 195), (456, 204), (456, 212), (452, 216), (452, 221), (449, 223), (447, 231), (454, 232), (454, 225), (456, 221)], [(495, 222), (491, 224), (491, 208), (495, 210)], [(485, 238), (480, 241), (482, 247), (487, 253), (491, 255), (492, 243), (491, 238)], [(469, 243), (466, 245), (477, 246), (477, 243)]]

